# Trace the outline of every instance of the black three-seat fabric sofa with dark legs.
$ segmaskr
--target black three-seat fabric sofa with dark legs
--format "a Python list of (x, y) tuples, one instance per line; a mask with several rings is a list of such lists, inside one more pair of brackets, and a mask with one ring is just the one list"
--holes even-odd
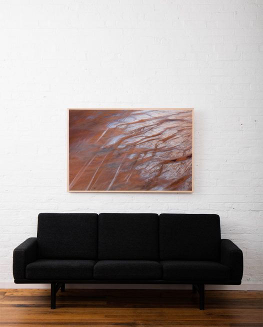
[(241, 283), (242, 251), (221, 239), (216, 214), (39, 213), (37, 237), (13, 251), (15, 283)]

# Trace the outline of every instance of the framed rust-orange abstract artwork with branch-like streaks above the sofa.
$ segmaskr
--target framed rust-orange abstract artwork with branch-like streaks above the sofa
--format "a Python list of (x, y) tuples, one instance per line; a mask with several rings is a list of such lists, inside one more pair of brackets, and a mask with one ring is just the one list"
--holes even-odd
[(68, 109), (68, 190), (192, 191), (193, 109)]

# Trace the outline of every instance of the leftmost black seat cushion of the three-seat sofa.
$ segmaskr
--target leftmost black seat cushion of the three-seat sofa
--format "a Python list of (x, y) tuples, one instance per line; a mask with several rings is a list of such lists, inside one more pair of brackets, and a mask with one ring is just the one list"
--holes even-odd
[(26, 279), (93, 279), (93, 260), (39, 259), (26, 265)]

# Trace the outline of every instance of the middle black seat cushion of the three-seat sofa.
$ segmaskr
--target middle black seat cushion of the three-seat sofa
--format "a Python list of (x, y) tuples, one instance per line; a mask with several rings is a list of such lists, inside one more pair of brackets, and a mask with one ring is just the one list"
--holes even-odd
[(94, 266), (94, 279), (161, 279), (161, 265), (146, 260), (101, 260)]

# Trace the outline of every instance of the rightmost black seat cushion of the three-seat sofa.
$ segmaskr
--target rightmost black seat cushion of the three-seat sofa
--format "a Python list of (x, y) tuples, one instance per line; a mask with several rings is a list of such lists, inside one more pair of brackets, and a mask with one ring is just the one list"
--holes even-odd
[(164, 280), (226, 280), (229, 268), (213, 261), (161, 261)]

